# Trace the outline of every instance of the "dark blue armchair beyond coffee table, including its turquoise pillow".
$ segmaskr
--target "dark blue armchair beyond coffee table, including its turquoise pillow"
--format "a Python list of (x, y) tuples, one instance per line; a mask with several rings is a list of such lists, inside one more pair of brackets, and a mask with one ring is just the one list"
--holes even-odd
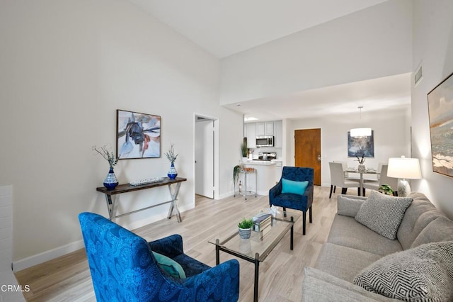
[(302, 234), (305, 235), (306, 211), (311, 219), (311, 203), (313, 203), (313, 168), (283, 167), (282, 178), (269, 190), (270, 206), (281, 206), (302, 211)]

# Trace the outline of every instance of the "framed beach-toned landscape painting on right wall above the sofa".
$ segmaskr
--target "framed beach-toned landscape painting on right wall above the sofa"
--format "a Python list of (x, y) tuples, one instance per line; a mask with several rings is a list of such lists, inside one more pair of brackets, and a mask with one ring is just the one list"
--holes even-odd
[(453, 177), (453, 74), (428, 92), (432, 171)]

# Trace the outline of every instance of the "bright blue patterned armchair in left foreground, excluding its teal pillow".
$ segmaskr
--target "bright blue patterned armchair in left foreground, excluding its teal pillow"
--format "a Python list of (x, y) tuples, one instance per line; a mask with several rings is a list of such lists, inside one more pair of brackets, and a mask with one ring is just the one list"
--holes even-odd
[[(95, 213), (79, 215), (96, 300), (237, 301), (239, 262), (208, 267), (184, 255), (180, 235), (147, 242)], [(184, 269), (186, 279), (164, 272), (153, 253), (166, 255)]]

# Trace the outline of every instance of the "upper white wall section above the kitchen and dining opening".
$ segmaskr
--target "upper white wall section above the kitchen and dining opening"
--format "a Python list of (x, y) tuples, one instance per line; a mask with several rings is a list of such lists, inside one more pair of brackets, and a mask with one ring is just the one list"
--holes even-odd
[(411, 72), (412, 1), (389, 0), (222, 59), (220, 103)]

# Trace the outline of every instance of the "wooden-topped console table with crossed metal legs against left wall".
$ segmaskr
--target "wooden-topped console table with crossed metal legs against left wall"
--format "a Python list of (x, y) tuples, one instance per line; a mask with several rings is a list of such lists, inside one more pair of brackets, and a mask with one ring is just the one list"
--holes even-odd
[[(168, 210), (167, 218), (170, 219), (172, 216), (173, 210), (175, 210), (176, 218), (178, 219), (178, 223), (180, 223), (182, 221), (181, 214), (179, 213), (178, 203), (176, 203), (176, 201), (178, 200), (179, 188), (181, 186), (181, 183), (186, 180), (187, 179), (181, 178), (181, 177), (176, 177), (176, 179), (169, 179), (168, 177), (165, 177), (164, 181), (153, 182), (151, 184), (142, 184), (139, 186), (132, 186), (130, 184), (119, 184), (113, 190), (108, 190), (105, 188), (105, 186), (99, 186), (98, 188), (96, 188), (96, 191), (99, 191), (99, 192), (102, 192), (103, 194), (105, 194), (105, 201), (107, 201), (108, 216), (110, 217), (110, 220), (112, 220), (112, 221), (115, 221), (115, 219), (118, 217), (130, 215), (132, 213), (136, 213), (139, 211), (144, 211), (144, 210), (147, 210), (148, 208), (154, 208), (155, 206), (161, 206), (165, 203), (170, 203), (170, 209)], [(172, 190), (172, 186), (171, 186), (172, 184), (176, 184), (176, 187), (174, 188), (174, 190)], [(159, 204), (155, 204), (154, 206), (147, 206), (146, 208), (140, 208), (135, 211), (130, 211), (127, 213), (116, 215), (117, 208), (118, 208), (118, 201), (117, 201), (117, 196), (116, 196), (117, 194), (122, 194), (122, 193), (127, 193), (127, 192), (132, 192), (132, 191), (139, 191), (139, 190), (144, 190), (144, 189), (157, 188), (159, 186), (168, 186), (168, 191), (170, 191), (171, 200), (164, 201)]]

